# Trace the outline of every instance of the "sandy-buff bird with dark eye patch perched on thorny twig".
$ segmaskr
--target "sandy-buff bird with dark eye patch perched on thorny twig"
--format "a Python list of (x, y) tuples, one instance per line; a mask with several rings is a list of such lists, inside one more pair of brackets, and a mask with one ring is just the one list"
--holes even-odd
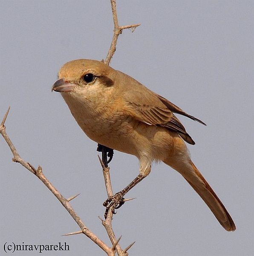
[(124, 195), (149, 175), (152, 164), (163, 162), (185, 178), (225, 230), (236, 230), (227, 209), (192, 162), (185, 143), (195, 142), (175, 114), (204, 122), (102, 61), (67, 62), (52, 91), (61, 93), (87, 137), (139, 159), (139, 175), (107, 198), (107, 209), (112, 207), (115, 213)]

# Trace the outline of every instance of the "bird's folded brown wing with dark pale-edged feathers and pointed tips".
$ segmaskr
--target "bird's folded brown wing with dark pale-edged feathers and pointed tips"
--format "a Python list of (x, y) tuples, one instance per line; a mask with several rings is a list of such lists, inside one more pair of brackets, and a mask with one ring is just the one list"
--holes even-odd
[[(141, 86), (141, 84), (139, 86)], [(145, 91), (144, 88), (146, 89)], [(128, 113), (131, 116), (141, 122), (147, 123), (148, 125), (161, 126), (171, 131), (175, 131), (187, 143), (192, 145), (195, 144), (191, 136), (186, 132), (184, 126), (176, 118), (173, 112), (203, 123), (202, 121), (194, 116), (188, 115), (182, 111), (182, 109), (178, 108), (176, 105), (169, 102), (162, 96), (153, 93), (146, 87), (143, 87), (142, 90), (140, 90), (138, 87), (131, 89), (131, 93), (124, 93), (124, 101), (129, 109)], [(143, 93), (140, 93), (140, 91)]]

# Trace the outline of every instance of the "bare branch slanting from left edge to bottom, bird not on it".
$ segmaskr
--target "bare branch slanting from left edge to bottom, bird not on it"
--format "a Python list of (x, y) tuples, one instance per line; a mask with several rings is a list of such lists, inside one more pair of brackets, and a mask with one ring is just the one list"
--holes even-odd
[(68, 200), (61, 195), (60, 192), (52, 185), (52, 183), (49, 182), (49, 180), (45, 177), (43, 174), (42, 168), (38, 166), (38, 169), (35, 169), (31, 164), (25, 162), (20, 155), (18, 154), (16, 148), (14, 147), (11, 139), (9, 138), (8, 134), (6, 133), (6, 127), (5, 127), (5, 121), (8, 116), (9, 109), (6, 112), (3, 121), (0, 125), (0, 133), (2, 134), (3, 138), (5, 139), (6, 143), (8, 144), (10, 150), (13, 154), (13, 161), (16, 163), (20, 163), (22, 166), (24, 166), (29, 172), (32, 172), (34, 175), (36, 175), (43, 183), (44, 185), (55, 195), (56, 198), (61, 202), (63, 207), (69, 212), (69, 214), (72, 216), (72, 218), (75, 220), (75, 222), (78, 224), (78, 226), (81, 228), (82, 233), (84, 233), (89, 239), (91, 239), (95, 244), (97, 244), (99, 247), (101, 247), (102, 250), (107, 253), (107, 255), (114, 256), (115, 253), (113, 250), (107, 246), (103, 241), (101, 241), (94, 233), (92, 233), (91, 230), (89, 230), (84, 222), (81, 220), (81, 218), (76, 214), (72, 206), (69, 204)]

